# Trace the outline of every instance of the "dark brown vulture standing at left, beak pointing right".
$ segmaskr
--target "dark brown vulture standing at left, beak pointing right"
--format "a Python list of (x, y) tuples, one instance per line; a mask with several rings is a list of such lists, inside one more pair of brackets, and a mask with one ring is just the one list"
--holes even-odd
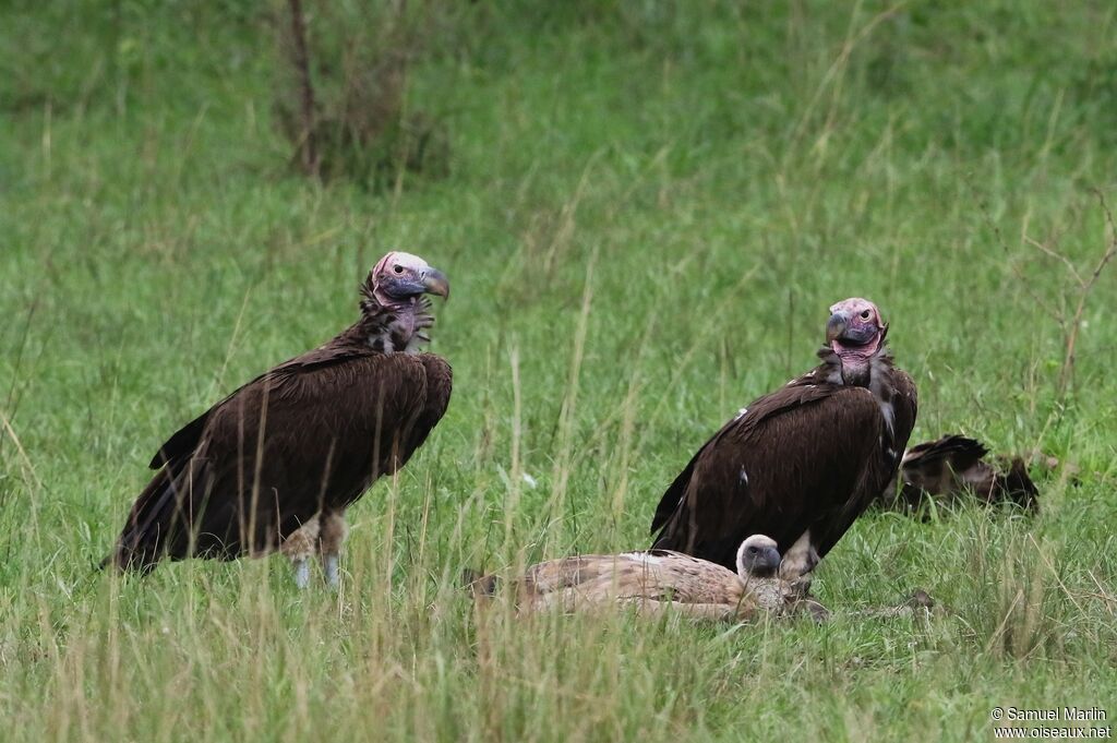
[(279, 549), (304, 588), (321, 552), (336, 585), (345, 508), (407, 464), (446, 412), (450, 365), (418, 345), (435, 323), (423, 295), (449, 293), (423, 259), (384, 256), (361, 286), (356, 323), (166, 440), (103, 564), (147, 571), (163, 558)]

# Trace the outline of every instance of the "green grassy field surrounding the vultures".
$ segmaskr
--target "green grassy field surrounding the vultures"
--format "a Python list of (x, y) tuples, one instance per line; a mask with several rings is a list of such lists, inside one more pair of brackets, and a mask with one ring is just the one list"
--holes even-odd
[[(0, 739), (971, 740), (994, 706), (1117, 715), (1117, 266), (1060, 384), (1075, 273), (1114, 238), (1113, 3), (432, 6), (407, 101), (449, 172), (390, 188), (288, 168), (264, 11), (105, 4), (0, 21)], [(297, 592), (281, 558), (95, 572), (163, 438), (349, 324), (393, 248), (450, 276), (455, 392), (350, 512), (342, 590)], [(822, 626), (475, 616), (462, 568), (647, 545), (690, 454), (808, 369), (851, 295), (918, 384), (915, 440), (1039, 447), (1080, 484), (1035, 473), (1037, 516), (867, 515), (819, 571)], [(952, 612), (852, 613), (916, 588)]]

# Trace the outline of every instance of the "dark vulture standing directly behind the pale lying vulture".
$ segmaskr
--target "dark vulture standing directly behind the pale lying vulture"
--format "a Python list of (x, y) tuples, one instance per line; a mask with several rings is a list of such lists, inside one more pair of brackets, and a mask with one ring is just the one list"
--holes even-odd
[(830, 307), (822, 363), (726, 423), (656, 509), (653, 547), (729, 568), (748, 534), (780, 545), (783, 578), (809, 573), (896, 473), (916, 416), (877, 306)]

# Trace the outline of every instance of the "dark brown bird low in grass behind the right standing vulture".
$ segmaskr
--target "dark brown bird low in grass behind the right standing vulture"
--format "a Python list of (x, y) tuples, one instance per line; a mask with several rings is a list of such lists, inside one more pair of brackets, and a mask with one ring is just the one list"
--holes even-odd
[(986, 503), (1015, 503), (1023, 508), (1038, 507), (1039, 489), (1020, 457), (1005, 467), (985, 461), (989, 449), (972, 438), (951, 434), (925, 441), (904, 454), (899, 487), (894, 479), (881, 494), (886, 508), (913, 512), (925, 499), (948, 504), (971, 495)]

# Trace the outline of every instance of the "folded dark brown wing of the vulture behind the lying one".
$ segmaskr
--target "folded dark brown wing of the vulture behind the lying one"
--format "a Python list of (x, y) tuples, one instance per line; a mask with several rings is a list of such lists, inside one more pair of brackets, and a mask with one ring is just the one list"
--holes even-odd
[(660, 502), (653, 546), (732, 569), (750, 534), (768, 534), (784, 552), (815, 523), (844, 532), (878, 477), (862, 471), (866, 463), (885, 468), (885, 434), (867, 389), (800, 378), (748, 406), (695, 456)]

